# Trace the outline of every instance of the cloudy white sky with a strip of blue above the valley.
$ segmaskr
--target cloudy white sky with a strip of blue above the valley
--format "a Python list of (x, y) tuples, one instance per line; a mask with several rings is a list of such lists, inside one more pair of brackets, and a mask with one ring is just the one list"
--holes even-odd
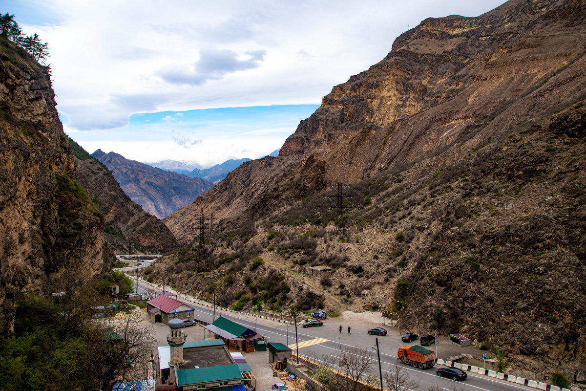
[(141, 162), (260, 158), (428, 17), (504, 0), (0, 0), (49, 43), (64, 131)]

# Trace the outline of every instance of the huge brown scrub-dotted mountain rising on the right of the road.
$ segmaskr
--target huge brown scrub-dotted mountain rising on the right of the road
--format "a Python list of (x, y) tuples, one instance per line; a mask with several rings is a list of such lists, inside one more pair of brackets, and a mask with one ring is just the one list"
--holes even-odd
[[(585, 21), (573, 0), (425, 19), (333, 87), (278, 157), (166, 217), (180, 243), (200, 208), (222, 219), (209, 268), (180, 254), (153, 273), (204, 298), (224, 286), (239, 308), (387, 303), (420, 334), (507, 353), (507, 373), (583, 378)], [(309, 276), (319, 264), (331, 277)]]

